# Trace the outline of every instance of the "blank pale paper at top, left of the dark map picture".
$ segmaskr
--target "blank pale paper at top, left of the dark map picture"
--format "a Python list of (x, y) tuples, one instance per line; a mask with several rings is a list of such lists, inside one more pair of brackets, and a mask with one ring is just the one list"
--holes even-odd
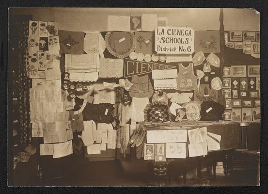
[(108, 16), (107, 31), (130, 31), (130, 16)]

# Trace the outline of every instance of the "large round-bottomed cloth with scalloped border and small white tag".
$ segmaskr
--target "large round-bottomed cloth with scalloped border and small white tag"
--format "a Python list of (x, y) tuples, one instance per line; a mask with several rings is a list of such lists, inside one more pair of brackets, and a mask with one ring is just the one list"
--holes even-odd
[(136, 49), (137, 40), (132, 32), (107, 32), (105, 44), (113, 56), (125, 58)]

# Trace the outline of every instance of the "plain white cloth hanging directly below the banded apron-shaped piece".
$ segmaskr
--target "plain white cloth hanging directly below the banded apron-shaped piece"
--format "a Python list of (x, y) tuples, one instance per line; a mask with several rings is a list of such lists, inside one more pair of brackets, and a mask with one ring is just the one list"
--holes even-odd
[(134, 122), (143, 122), (144, 121), (144, 113), (143, 110), (147, 104), (149, 104), (149, 98), (143, 97), (133, 97), (131, 103), (131, 120)]

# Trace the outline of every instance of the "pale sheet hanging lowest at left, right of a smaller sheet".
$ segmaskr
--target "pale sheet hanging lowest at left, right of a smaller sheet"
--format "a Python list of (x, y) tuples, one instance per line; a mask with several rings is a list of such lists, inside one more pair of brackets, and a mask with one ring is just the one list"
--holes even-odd
[(60, 144), (54, 144), (53, 158), (61, 158), (73, 153), (72, 140)]

